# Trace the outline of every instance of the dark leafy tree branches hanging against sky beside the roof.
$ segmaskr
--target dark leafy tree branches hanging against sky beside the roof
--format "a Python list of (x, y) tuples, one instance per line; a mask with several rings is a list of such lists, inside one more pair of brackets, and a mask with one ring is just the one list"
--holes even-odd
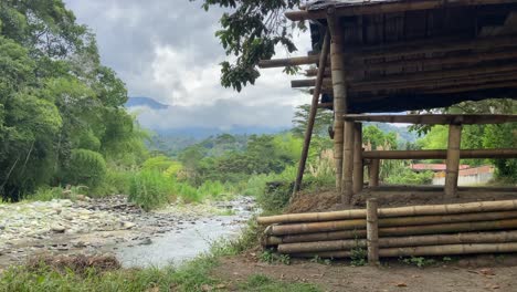
[[(193, 1), (193, 0), (191, 0)], [(305, 29), (304, 23), (292, 24), (284, 11), (300, 4), (300, 0), (202, 0), (202, 8), (224, 8), (221, 15), (219, 38), (229, 59), (221, 63), (221, 84), (241, 91), (246, 84), (254, 84), (260, 76), (256, 65), (260, 60), (271, 59), (275, 46), (281, 45), (293, 53), (293, 30)], [(232, 56), (232, 58), (230, 58)], [(235, 58), (233, 58), (235, 56)], [(295, 73), (295, 67), (287, 67)]]

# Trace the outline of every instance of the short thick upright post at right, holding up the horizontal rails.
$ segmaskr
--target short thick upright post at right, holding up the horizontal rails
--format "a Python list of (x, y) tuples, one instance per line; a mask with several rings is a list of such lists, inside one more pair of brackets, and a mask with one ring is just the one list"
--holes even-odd
[(445, 197), (456, 197), (457, 192), (457, 176), (460, 173), (460, 145), (462, 142), (462, 125), (449, 126), (449, 145), (447, 145), (447, 166), (445, 174)]

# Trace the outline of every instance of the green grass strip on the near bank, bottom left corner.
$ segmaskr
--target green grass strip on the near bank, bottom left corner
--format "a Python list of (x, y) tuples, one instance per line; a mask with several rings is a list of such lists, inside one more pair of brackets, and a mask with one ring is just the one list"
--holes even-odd
[(179, 269), (129, 269), (98, 271), (87, 268), (36, 265), (11, 268), (0, 277), (0, 291), (201, 291), (217, 284), (210, 277), (218, 265), (214, 257), (204, 255)]

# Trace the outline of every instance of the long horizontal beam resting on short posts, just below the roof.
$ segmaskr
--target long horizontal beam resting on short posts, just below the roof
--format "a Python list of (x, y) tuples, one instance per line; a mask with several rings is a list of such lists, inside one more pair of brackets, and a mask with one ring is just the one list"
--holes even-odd
[(350, 122), (378, 122), (378, 123), (403, 123), (420, 125), (449, 125), (449, 124), (504, 124), (517, 122), (517, 115), (452, 115), (452, 114), (428, 114), (428, 115), (345, 115), (345, 121)]

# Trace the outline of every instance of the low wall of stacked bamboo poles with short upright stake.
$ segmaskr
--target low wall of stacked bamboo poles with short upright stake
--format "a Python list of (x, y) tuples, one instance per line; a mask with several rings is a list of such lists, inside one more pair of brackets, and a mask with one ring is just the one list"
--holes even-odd
[(263, 246), (302, 258), (517, 252), (517, 200), (377, 208), (260, 217)]

